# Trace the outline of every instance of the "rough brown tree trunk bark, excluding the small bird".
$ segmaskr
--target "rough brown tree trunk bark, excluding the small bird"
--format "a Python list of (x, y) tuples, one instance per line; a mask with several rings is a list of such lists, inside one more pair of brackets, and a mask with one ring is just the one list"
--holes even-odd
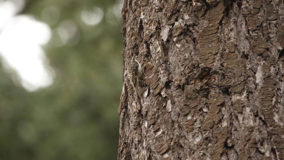
[(118, 159), (284, 159), (280, 0), (125, 0)]

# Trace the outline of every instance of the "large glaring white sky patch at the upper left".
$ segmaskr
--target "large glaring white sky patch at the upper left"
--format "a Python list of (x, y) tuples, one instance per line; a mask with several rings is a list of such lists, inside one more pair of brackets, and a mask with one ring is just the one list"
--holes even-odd
[[(28, 91), (51, 85), (54, 73), (41, 48), (51, 38), (50, 27), (27, 15), (13, 17), (17, 12), (17, 5), (1, 12), (5, 7), (7, 6), (0, 5), (0, 15), (12, 13), (12, 16), (0, 26), (0, 55), (4, 67), (8, 71), (14, 70), (20, 83)], [(0, 16), (0, 22), (2, 18)]]

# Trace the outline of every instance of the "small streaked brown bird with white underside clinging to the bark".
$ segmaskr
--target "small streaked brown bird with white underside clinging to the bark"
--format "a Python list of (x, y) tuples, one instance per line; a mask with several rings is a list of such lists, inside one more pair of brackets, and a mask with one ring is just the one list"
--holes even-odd
[(141, 92), (139, 89), (139, 79), (142, 75), (141, 64), (135, 60), (134, 57), (127, 63), (127, 75), (130, 80), (130, 83), (135, 89), (136, 96), (141, 99)]

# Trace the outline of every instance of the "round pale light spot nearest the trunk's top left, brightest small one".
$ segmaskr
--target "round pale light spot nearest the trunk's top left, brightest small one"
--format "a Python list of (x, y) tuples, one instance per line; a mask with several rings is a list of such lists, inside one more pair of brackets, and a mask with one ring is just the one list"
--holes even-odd
[(101, 22), (104, 11), (100, 7), (93, 7), (92, 10), (84, 9), (81, 12), (81, 19), (87, 25), (97, 25)]

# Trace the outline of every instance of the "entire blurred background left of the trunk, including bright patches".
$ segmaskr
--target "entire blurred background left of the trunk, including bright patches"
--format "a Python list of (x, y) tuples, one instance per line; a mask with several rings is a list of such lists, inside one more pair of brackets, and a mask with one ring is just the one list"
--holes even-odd
[(0, 0), (0, 159), (116, 159), (123, 0)]

